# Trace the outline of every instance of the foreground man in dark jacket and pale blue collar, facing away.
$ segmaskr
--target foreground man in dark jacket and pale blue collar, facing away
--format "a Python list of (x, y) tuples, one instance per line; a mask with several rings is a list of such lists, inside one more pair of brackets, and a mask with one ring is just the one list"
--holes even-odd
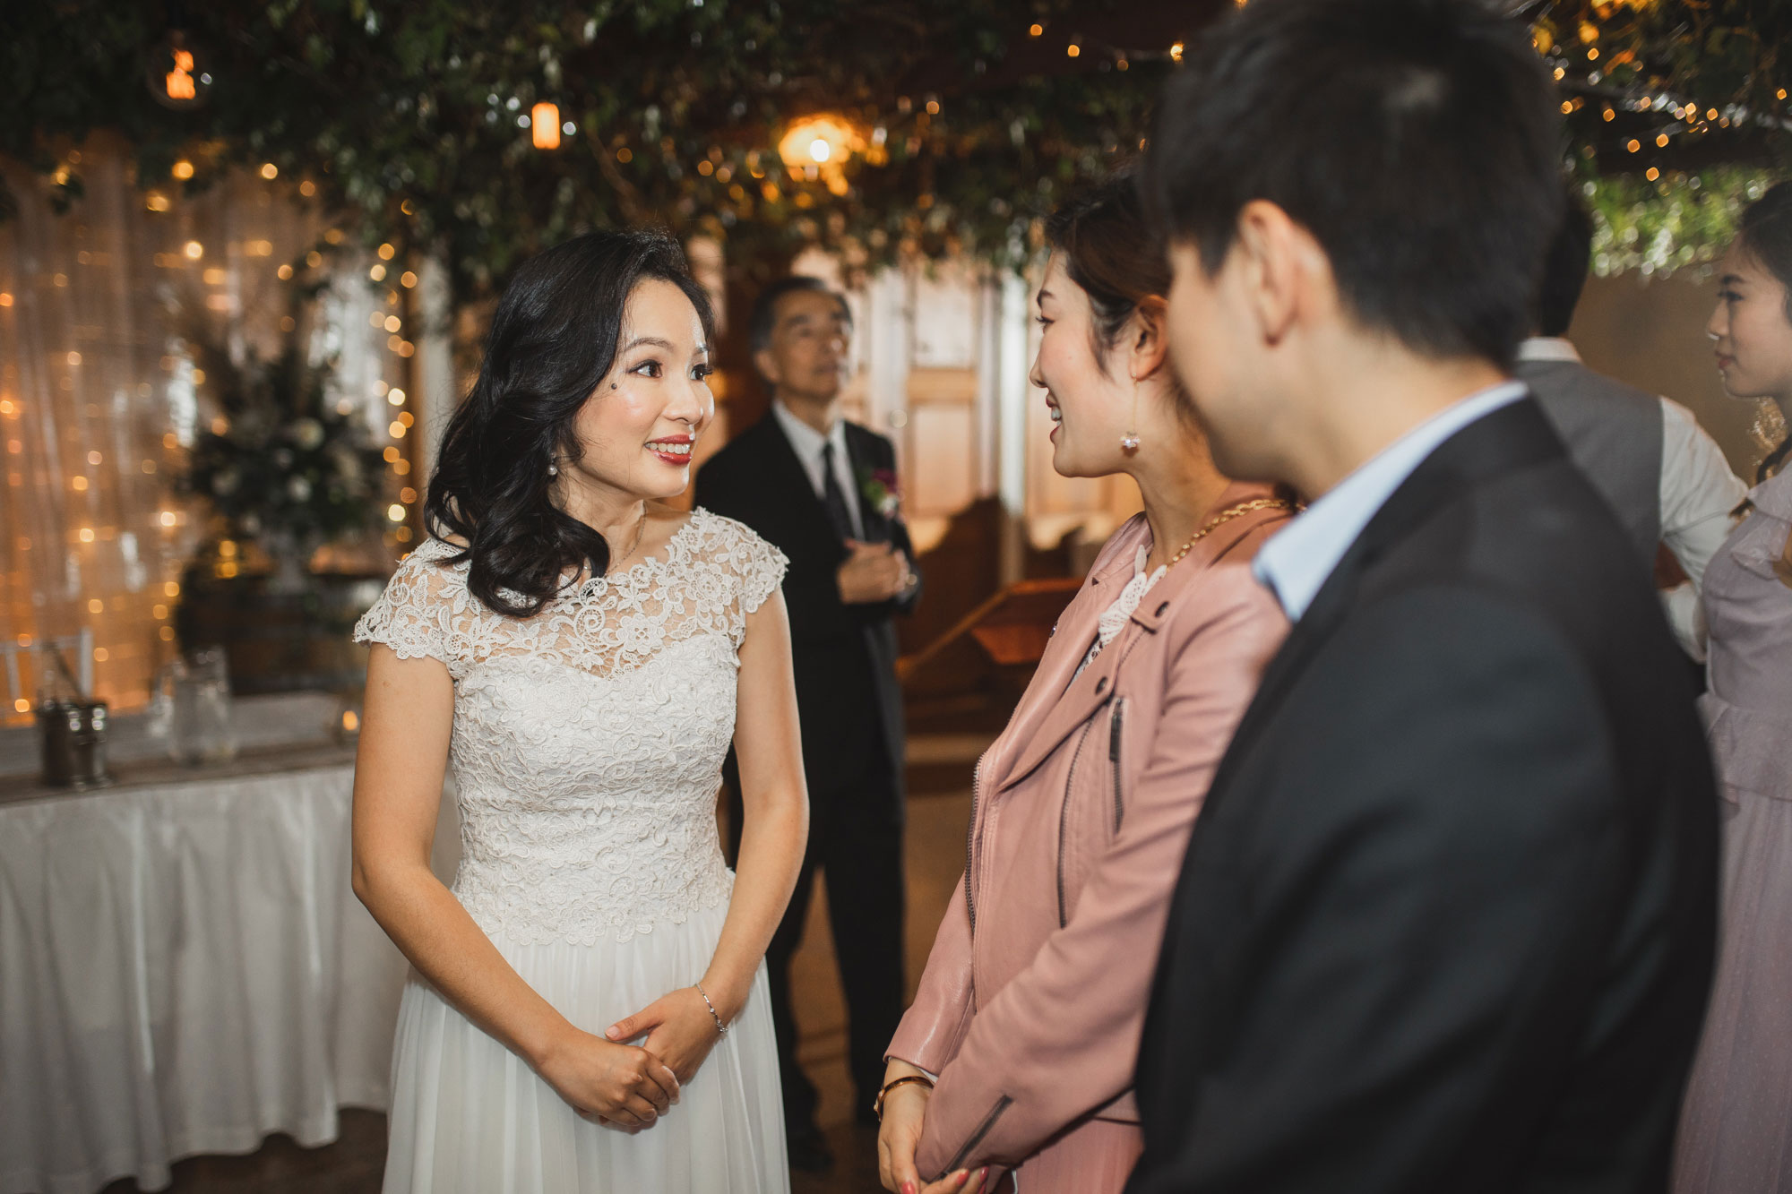
[(1145, 1022), (1131, 1194), (1661, 1190), (1717, 801), (1645, 561), (1512, 353), (1555, 95), (1469, 0), (1256, 0), (1147, 194), (1219, 466), (1310, 509)]

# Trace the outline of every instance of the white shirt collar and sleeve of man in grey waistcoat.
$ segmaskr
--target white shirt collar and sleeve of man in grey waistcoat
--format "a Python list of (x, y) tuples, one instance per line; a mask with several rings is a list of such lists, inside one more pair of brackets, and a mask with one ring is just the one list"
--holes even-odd
[[(1545, 335), (1520, 344), (1518, 359), (1581, 364), (1581, 353), (1570, 341)], [(1729, 511), (1747, 493), (1749, 488), (1729, 472), (1724, 450), (1699, 427), (1693, 412), (1661, 398), (1661, 541), (1692, 581), (1665, 592), (1661, 604), (1674, 636), (1695, 660), (1704, 658), (1704, 610), (1699, 604), (1704, 567), (1729, 538), (1735, 527)]]

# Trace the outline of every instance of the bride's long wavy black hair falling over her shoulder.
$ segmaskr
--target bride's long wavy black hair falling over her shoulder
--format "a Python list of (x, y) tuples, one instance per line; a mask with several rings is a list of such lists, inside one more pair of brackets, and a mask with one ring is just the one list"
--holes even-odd
[(713, 339), (710, 298), (659, 231), (575, 237), (525, 262), (498, 299), (423, 507), (430, 534), (466, 541), (453, 561), (471, 559), (468, 590), (498, 613), (539, 613), (568, 570), (609, 568), (604, 536), (554, 504), (548, 466), (582, 455), (573, 420), (602, 402), (629, 294), (650, 278), (681, 289)]

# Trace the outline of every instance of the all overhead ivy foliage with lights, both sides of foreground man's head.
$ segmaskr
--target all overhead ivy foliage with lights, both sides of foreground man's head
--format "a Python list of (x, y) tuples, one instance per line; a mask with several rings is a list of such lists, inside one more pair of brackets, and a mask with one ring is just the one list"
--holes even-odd
[[(1186, 5), (1190, 32), (1226, 7)], [(1792, 4), (1521, 7), (1606, 260), (1670, 271), (1720, 249), (1735, 195), (1792, 161)], [(867, 267), (1014, 262), (1038, 215), (1136, 151), (1174, 68), (1161, 38), (1086, 39), (1066, 63), (1072, 13), (1091, 9), (1070, 0), (238, 0), (185, 5), (211, 97), (168, 111), (145, 70), (179, 9), (0, 5), (0, 152), (61, 206), (81, 194), (66, 151), (93, 129), (127, 138), (145, 188), (174, 186), (181, 158), (186, 188), (272, 163), (400, 260), (439, 251), (459, 301), (543, 244), (625, 224), (713, 235), (749, 273), (815, 242)], [(575, 129), (559, 149), (520, 125), (538, 100)], [(837, 170), (778, 156), (814, 113), (864, 138)], [(0, 188), (0, 215), (11, 201)]]

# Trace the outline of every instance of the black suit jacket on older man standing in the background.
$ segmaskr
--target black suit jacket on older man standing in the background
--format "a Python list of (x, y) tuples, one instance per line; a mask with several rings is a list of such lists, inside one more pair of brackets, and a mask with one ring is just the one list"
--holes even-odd
[[(846, 425), (846, 452), (855, 477), (896, 470), (891, 441), (857, 423)], [(849, 746), (867, 737), (900, 782), (903, 717), (891, 617), (914, 608), (919, 586), (892, 602), (849, 606), (840, 601), (835, 574), (846, 549), (790, 439), (771, 414), (697, 472), (697, 504), (738, 518), (790, 558), (783, 595), (790, 608), (790, 654), (810, 796), (821, 801), (860, 780), (867, 764)], [(885, 518), (862, 493), (858, 515), (866, 541), (894, 543), (914, 559), (900, 515)]]

